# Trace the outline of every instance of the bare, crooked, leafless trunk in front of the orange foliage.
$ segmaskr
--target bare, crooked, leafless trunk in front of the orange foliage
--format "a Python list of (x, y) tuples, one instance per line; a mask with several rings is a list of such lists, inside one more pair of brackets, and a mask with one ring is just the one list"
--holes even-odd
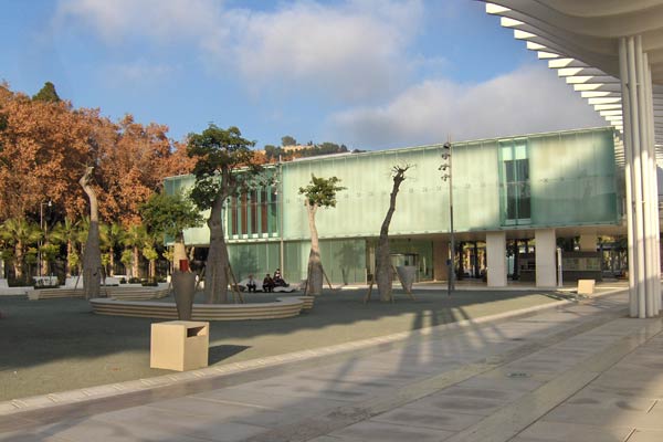
[(85, 299), (98, 297), (102, 285), (102, 251), (99, 249), (99, 213), (97, 198), (92, 187), (92, 172), (94, 168), (88, 167), (78, 183), (90, 199), (90, 231), (85, 242), (83, 254), (83, 291)]

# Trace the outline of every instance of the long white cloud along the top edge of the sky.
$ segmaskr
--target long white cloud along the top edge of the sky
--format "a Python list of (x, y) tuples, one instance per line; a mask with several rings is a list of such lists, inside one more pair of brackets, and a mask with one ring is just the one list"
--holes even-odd
[(246, 87), (358, 102), (401, 88), (414, 61), (420, 0), (283, 3), (275, 11), (223, 9), (213, 0), (61, 0), (56, 22), (83, 23), (109, 44), (127, 36), (189, 39), (209, 66)]

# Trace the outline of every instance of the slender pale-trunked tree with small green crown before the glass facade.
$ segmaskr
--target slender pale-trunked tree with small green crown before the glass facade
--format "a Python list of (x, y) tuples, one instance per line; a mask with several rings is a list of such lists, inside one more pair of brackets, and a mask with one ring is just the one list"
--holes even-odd
[(304, 206), (308, 214), (308, 228), (311, 229), (311, 253), (308, 254), (307, 293), (319, 295), (323, 292), (323, 262), (320, 260), (320, 246), (318, 242), (315, 214), (318, 208), (336, 207), (336, 193), (345, 187), (337, 186), (340, 179), (337, 177), (318, 178), (311, 175), (311, 183), (299, 188), (299, 194), (304, 196)]

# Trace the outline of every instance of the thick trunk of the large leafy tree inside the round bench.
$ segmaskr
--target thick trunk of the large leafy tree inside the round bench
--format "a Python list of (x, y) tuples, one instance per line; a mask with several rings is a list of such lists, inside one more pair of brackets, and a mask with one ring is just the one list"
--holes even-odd
[(228, 248), (223, 235), (221, 211), (227, 196), (221, 193), (214, 200), (210, 218), (210, 251), (204, 271), (204, 298), (208, 304), (228, 303)]

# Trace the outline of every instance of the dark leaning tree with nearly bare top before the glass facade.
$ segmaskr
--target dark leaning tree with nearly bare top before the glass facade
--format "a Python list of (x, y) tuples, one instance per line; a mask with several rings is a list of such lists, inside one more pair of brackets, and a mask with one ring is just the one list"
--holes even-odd
[(391, 218), (396, 211), (396, 197), (398, 196), (400, 185), (406, 180), (406, 172), (410, 167), (410, 165), (404, 165), (391, 168), (393, 186), (389, 196), (389, 209), (380, 227), (380, 238), (376, 249), (376, 280), (378, 282), (380, 301), (382, 302), (391, 301), (391, 283), (393, 281), (393, 267), (391, 265), (391, 253), (389, 252), (389, 224), (391, 224)]

